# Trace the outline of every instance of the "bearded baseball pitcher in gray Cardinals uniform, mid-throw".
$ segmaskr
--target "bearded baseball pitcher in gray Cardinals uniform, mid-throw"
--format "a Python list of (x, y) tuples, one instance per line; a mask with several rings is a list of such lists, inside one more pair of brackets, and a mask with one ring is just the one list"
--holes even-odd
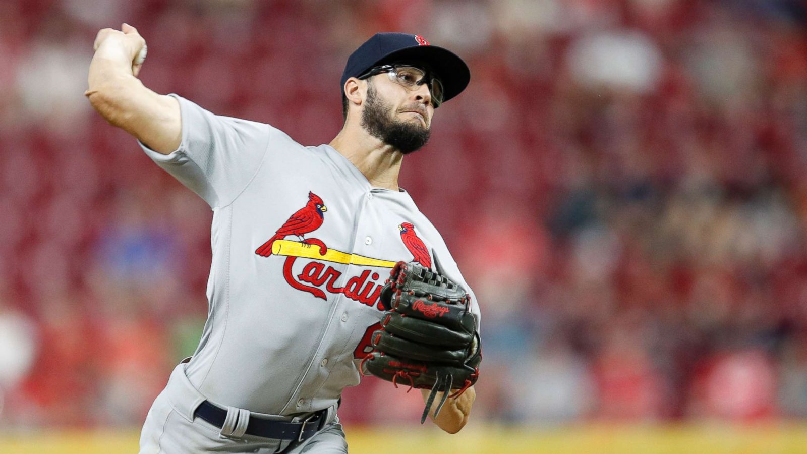
[(372, 36), (345, 65), (341, 132), (303, 146), (149, 90), (128, 24), (94, 49), (94, 109), (213, 210), (207, 323), (148, 411), (140, 452), (347, 452), (337, 407), (368, 372), (422, 388), (433, 422), (459, 431), (479, 309), (398, 174), (469, 82), (462, 59), (421, 36)]

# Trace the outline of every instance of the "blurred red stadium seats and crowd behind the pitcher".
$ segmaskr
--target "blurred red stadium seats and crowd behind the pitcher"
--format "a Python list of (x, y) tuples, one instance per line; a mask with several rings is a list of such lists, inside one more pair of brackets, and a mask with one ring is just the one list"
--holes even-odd
[(306, 145), (374, 32), (468, 61), (401, 185), (483, 308), (475, 420), (807, 417), (807, 2), (6, 0), (0, 427), (140, 425), (207, 315), (209, 208), (82, 95), (124, 21), (146, 86)]

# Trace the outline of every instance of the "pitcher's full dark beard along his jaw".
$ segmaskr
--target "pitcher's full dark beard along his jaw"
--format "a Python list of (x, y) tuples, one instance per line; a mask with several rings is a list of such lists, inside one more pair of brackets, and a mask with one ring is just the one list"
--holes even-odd
[(391, 111), (391, 104), (385, 103), (370, 84), (362, 110), (362, 128), (403, 154), (412, 153), (426, 145), (432, 133), (428, 127), (422, 126), (420, 122), (413, 124), (397, 120), (391, 115)]

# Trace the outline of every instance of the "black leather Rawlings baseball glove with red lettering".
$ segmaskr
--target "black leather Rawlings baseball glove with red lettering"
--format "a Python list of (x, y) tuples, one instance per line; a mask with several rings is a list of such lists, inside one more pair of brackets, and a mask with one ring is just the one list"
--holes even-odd
[(444, 275), (416, 263), (399, 262), (381, 292), (386, 312), (372, 336), (373, 351), (361, 364), (362, 373), (412, 388), (431, 389), (422, 424), (438, 391), (458, 397), (479, 377), (482, 348), (470, 295)]

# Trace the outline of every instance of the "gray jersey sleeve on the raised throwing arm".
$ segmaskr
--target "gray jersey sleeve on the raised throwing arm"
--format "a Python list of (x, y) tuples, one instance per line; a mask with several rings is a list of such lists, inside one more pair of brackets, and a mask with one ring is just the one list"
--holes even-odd
[(223, 207), (257, 174), (273, 133), (269, 124), (218, 116), (178, 95), (182, 141), (169, 154), (138, 141), (144, 152), (211, 208)]

